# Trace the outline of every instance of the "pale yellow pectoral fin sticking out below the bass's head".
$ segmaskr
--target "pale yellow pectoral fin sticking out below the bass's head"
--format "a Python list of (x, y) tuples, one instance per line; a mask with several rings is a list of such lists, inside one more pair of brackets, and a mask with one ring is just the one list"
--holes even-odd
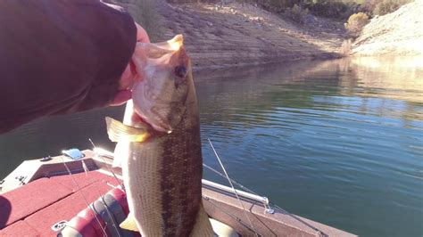
[(106, 117), (105, 120), (107, 134), (112, 142), (125, 140), (129, 142), (142, 143), (149, 136), (145, 128), (124, 125), (120, 121), (110, 117)]

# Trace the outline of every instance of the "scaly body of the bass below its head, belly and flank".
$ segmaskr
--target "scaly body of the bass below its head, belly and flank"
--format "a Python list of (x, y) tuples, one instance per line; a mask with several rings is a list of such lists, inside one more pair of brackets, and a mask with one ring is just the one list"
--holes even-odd
[[(143, 232), (146, 236), (188, 236), (202, 201), (203, 162), (198, 125), (189, 129), (182, 125), (170, 135), (130, 143), (129, 150), (131, 157), (122, 164), (123, 172), (136, 169), (138, 176), (125, 182), (128, 195), (134, 203), (148, 203), (139, 211), (136, 207), (132, 209), (142, 226), (154, 226), (143, 228)], [(132, 187), (142, 187), (141, 192)], [(150, 230), (162, 233), (149, 233)]]

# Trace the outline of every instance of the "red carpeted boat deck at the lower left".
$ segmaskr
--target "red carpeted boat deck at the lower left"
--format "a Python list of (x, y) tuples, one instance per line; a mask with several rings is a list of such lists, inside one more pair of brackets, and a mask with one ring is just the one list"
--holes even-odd
[(56, 236), (54, 224), (75, 217), (113, 185), (118, 184), (112, 176), (90, 171), (44, 177), (5, 192), (0, 195), (0, 236)]

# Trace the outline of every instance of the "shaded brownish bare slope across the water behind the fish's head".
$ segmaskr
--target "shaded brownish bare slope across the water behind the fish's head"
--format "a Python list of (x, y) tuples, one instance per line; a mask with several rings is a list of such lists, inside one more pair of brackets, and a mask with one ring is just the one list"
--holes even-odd
[[(115, 0), (137, 20), (158, 12), (148, 31), (155, 41), (182, 33), (195, 69), (340, 57), (342, 23), (314, 16), (298, 25), (251, 4), (169, 4), (145, 11), (136, 0)], [(138, 15), (137, 15), (138, 14)], [(143, 19), (141, 19), (143, 20)]]

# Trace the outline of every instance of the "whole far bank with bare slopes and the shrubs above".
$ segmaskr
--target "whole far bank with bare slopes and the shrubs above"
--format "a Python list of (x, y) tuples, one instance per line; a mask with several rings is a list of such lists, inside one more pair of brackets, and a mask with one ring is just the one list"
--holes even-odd
[[(195, 70), (350, 55), (423, 55), (418, 44), (423, 43), (419, 33), (423, 31), (419, 20), (423, 3), (419, 1), (110, 0), (109, 3), (128, 9), (153, 42), (182, 33)], [(414, 44), (410, 44), (411, 39)]]

